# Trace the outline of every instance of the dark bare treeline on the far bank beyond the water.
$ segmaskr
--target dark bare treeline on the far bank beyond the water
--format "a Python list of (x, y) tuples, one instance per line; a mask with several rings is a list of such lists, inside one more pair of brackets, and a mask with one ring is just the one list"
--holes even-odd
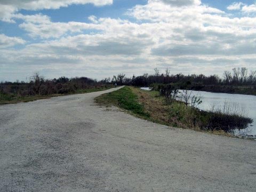
[(222, 93), (256, 94), (256, 70), (248, 71), (247, 68), (233, 68), (232, 71), (224, 71), (223, 76), (200, 75), (170, 75), (170, 68), (160, 74), (157, 68), (154, 75), (144, 74), (126, 78), (119, 74), (117, 82), (124, 85), (152, 86), (154, 84), (174, 84), (178, 89), (190, 89), (196, 91), (211, 91)]

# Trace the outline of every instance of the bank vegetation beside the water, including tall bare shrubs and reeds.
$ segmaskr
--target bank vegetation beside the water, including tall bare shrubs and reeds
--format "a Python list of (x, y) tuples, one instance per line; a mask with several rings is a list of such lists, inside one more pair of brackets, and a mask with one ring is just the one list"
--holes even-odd
[[(208, 104), (202, 100), (207, 98), (207, 95), (200, 97), (193, 91), (187, 90), (186, 94), (183, 90), (173, 91), (165, 88), (145, 91), (138, 87), (126, 86), (95, 100), (103, 105), (124, 108), (140, 118), (156, 123), (221, 135), (238, 136), (239, 134), (248, 137), (247, 127), (252, 124), (253, 119), (247, 117), (238, 105), (229, 105), (230, 103), (226, 102), (226, 106), (220, 106), (217, 103), (211, 105), (209, 102), (211, 108), (206, 110), (204, 106)], [(187, 100), (184, 99), (186, 97)], [(201, 105), (202, 108), (199, 107)]]

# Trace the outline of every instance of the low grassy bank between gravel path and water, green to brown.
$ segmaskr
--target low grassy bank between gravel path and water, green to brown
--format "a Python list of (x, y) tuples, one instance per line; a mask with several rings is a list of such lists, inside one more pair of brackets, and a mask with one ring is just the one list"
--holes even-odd
[(95, 100), (101, 105), (114, 105), (129, 110), (136, 116), (156, 123), (230, 137), (233, 136), (230, 131), (231, 124), (242, 129), (251, 121), (239, 115), (223, 114), (221, 111), (200, 111), (179, 101), (166, 103), (158, 91), (143, 91), (136, 87), (126, 86), (118, 91), (103, 94)]

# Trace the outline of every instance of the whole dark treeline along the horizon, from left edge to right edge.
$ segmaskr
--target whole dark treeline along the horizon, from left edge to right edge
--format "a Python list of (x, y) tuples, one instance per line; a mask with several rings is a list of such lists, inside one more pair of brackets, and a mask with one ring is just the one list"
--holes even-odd
[[(79, 90), (91, 89), (93, 87), (106, 87), (111, 84), (133, 85), (133, 86), (152, 86), (154, 84), (172, 83), (178, 89), (191, 89), (201, 91), (256, 94), (256, 70), (249, 70), (245, 67), (233, 68), (231, 71), (224, 71), (223, 76), (206, 76), (203, 74), (171, 74), (171, 69), (166, 68), (164, 73), (159, 69), (154, 69), (154, 74), (143, 74), (141, 76), (126, 77), (125, 74), (114, 75), (113, 78), (105, 78), (101, 81), (88, 77), (60, 77), (46, 79), (39, 73), (31, 76), (27, 82), (1, 82), (1, 94), (26, 95), (50, 95), (76, 93)], [(238, 86), (247, 86), (252, 90), (239, 92)], [(241, 90), (240, 90), (241, 91)]]

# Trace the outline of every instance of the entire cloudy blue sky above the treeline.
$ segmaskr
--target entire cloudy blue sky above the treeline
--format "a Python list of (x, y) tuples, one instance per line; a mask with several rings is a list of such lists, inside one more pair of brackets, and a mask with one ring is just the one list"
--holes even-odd
[(256, 70), (253, 0), (0, 0), (0, 81)]

